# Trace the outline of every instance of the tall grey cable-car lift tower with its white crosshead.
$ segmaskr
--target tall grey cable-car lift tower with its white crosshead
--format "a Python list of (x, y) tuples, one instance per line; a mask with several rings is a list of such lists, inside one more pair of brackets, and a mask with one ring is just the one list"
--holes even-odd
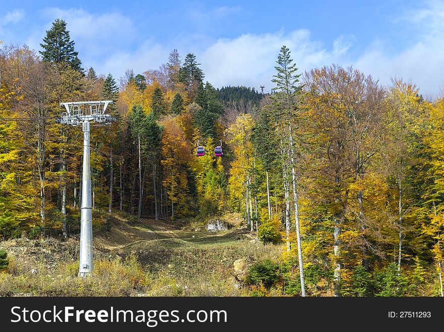
[(111, 124), (115, 117), (105, 114), (105, 110), (112, 101), (68, 102), (60, 103), (66, 112), (57, 119), (58, 123), (78, 126), (83, 130), (83, 176), (82, 176), (82, 206), (80, 217), (80, 265), (79, 277), (90, 275), (94, 268), (92, 252), (92, 201), (91, 201), (91, 169), (90, 169), (90, 122)]

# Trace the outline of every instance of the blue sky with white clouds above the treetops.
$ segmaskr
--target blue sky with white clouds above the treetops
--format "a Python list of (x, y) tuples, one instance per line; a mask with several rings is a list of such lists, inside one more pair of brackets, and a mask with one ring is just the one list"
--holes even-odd
[(265, 85), (287, 45), (300, 72), (333, 63), (390, 84), (444, 88), (444, 2), (422, 1), (10, 1), (0, 0), (0, 40), (39, 43), (62, 18), (83, 67), (116, 80), (194, 53), (214, 86)]

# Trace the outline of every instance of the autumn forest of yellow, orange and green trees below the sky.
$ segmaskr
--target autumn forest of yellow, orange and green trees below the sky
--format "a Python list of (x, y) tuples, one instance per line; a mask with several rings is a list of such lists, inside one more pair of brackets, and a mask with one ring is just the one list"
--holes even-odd
[(286, 46), (272, 93), (215, 88), (176, 49), (116, 80), (82, 68), (63, 20), (41, 46), (0, 45), (0, 242), (79, 233), (82, 128), (55, 119), (60, 103), (110, 100), (117, 121), (91, 125), (95, 227), (114, 211), (236, 213), (282, 248), (250, 267), (253, 295), (443, 296), (444, 97), (335, 64), (300, 72)]

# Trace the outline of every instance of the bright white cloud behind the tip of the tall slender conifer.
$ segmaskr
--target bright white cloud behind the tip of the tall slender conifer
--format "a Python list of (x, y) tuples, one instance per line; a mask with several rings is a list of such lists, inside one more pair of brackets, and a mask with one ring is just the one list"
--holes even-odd
[(285, 34), (244, 34), (233, 39), (219, 39), (198, 58), (205, 80), (214, 86), (265, 85), (271, 89), (274, 66), (282, 45), (286, 45), (299, 73), (313, 67), (343, 62), (353, 37), (341, 36), (328, 50), (323, 43), (310, 39), (305, 29)]

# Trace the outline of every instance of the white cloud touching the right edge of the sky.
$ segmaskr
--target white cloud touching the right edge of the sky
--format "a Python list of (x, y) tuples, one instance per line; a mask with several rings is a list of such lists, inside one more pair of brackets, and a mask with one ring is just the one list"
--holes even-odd
[(388, 53), (386, 43), (375, 41), (354, 63), (354, 67), (390, 84), (402, 78), (415, 83), (420, 92), (438, 97), (444, 87), (444, 3), (429, 1), (427, 6), (407, 11), (399, 20), (412, 25), (413, 43), (396, 54)]

